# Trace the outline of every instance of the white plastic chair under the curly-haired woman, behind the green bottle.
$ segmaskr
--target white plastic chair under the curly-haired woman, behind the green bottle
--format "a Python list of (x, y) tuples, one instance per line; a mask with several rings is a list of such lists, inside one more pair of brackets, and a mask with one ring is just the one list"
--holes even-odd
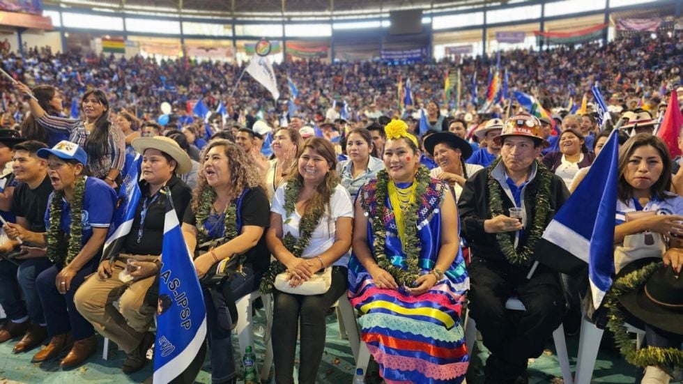
[[(254, 328), (252, 326), (252, 303), (257, 298), (263, 300), (263, 307), (266, 309), (266, 318), (269, 314), (273, 313), (270, 310), (271, 307), (271, 296), (262, 295), (260, 291), (254, 291), (246, 296), (243, 296), (237, 300), (235, 303), (237, 306), (237, 325), (235, 327), (235, 332), (240, 341), (240, 357), (244, 355), (247, 346), (252, 347), (254, 350)], [(266, 328), (266, 356), (263, 358), (263, 367), (261, 368), (261, 380), (268, 380), (268, 375), (270, 374), (270, 365), (273, 364), (273, 342), (270, 340), (270, 323), (272, 319), (268, 318), (268, 326)], [(241, 360), (241, 359), (240, 359)], [(256, 362), (254, 362), (254, 367)], [(256, 367), (258, 370), (258, 367)]]

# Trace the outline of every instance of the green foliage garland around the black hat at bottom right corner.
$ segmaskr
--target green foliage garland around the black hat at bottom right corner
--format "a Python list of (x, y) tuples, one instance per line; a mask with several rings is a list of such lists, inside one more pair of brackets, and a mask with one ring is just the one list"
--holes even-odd
[(605, 295), (605, 307), (609, 309), (610, 314), (607, 326), (614, 334), (614, 340), (620, 353), (624, 355), (627, 362), (636, 367), (645, 368), (648, 365), (683, 366), (683, 351), (678, 348), (648, 346), (647, 348), (636, 349), (636, 344), (629, 339), (627, 329), (624, 326), (626, 316), (624, 316), (619, 304), (620, 295), (639, 289), (655, 270), (661, 268), (661, 264), (661, 262), (652, 263), (620, 277)]

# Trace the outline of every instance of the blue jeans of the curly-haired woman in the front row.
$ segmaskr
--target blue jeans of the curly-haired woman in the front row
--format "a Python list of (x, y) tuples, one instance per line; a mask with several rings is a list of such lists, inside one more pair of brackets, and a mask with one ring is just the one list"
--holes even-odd
[[(259, 282), (261, 282), (261, 276), (257, 278), (254, 275), (254, 270), (250, 264), (243, 266), (243, 272), (244, 275), (235, 273), (230, 279), (230, 288), (235, 300), (256, 291), (259, 288)], [(222, 383), (233, 378), (236, 371), (231, 332), (222, 328), (218, 322), (218, 316), (225, 316), (227, 309), (224, 302), (216, 308), (208, 290), (203, 289), (202, 291), (204, 291), (204, 303), (206, 305), (208, 343), (211, 348), (211, 381)]]

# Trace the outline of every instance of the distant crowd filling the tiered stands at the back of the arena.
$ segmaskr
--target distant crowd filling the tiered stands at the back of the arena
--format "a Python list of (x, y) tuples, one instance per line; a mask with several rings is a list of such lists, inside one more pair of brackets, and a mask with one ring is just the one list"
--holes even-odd
[[(605, 46), (590, 43), (541, 52), (530, 49), (501, 52), (500, 81), (502, 72), (507, 70), (507, 88), (536, 95), (546, 109), (567, 105), (570, 98), (580, 103), (584, 93), (589, 94), (590, 100), (590, 86), (597, 81), (606, 95), (618, 93), (624, 102), (634, 98), (637, 102), (642, 100), (656, 106), (661, 100), (662, 86), (666, 88), (681, 82), (682, 37), (681, 31), (670, 31), (659, 33), (654, 39), (645, 35), (618, 38)], [(491, 54), (466, 57), (461, 63), (445, 59), (439, 63), (410, 66), (298, 60), (275, 64), (274, 69), (283, 98), (291, 97), (286, 91), (289, 77), (298, 89), (294, 101), (298, 113), (307, 121), (320, 123), (335, 100), (347, 106), (349, 117), (400, 115), (397, 86), (402, 83), (405, 89), (407, 79), (412, 84), (413, 100), (423, 104), (425, 100), (437, 100), (442, 114), (481, 109), (486, 100), (490, 72), (497, 64), (498, 57)], [(160, 104), (164, 101), (171, 102), (176, 113), (185, 114), (188, 100), (201, 99), (212, 111), (222, 102), (230, 119), (235, 121), (246, 118), (253, 111), (254, 114), (262, 112), (263, 117), (269, 121), (273, 118), (272, 123), (275, 123), (282, 107), (270, 93), (249, 75), (236, 83), (245, 65), (54, 53), (49, 47), (28, 49), (22, 57), (14, 53), (3, 55), (3, 68), (10, 75), (29, 86), (48, 84), (59, 88), (67, 108), (84, 91), (97, 88), (105, 91), (114, 110), (126, 108), (138, 118), (158, 118), (162, 114)], [(460, 95), (455, 92), (454, 74), (458, 70), (461, 72)], [(444, 83), (449, 74), (453, 91), (450, 99), (445, 100)], [(0, 82), (9, 84), (7, 79)], [(234, 92), (233, 87), (236, 87)], [(474, 88), (476, 92), (473, 93)], [(14, 95), (5, 95), (5, 99), (5, 112), (14, 115)], [(476, 100), (474, 104), (473, 100)], [(456, 105), (457, 101), (459, 105)]]

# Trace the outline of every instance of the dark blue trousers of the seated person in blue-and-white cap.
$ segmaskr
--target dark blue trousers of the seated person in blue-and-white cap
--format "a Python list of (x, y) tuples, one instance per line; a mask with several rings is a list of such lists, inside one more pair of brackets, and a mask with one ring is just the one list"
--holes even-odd
[(40, 302), (43, 303), (45, 320), (47, 320), (47, 335), (53, 337), (66, 332), (72, 332), (75, 340), (82, 340), (95, 335), (93, 325), (78, 313), (73, 302), (73, 296), (84, 279), (91, 275), (98, 267), (98, 257), (93, 257), (71, 279), (71, 285), (66, 294), (57, 291), (54, 280), (61, 267), (51, 266), (40, 272), (36, 279), (36, 287)]

